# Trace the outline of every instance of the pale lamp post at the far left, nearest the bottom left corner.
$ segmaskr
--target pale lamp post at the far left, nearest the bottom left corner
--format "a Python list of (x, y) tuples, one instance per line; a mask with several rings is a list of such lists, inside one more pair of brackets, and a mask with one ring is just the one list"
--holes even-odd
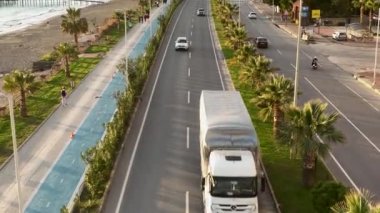
[(16, 175), (16, 182), (17, 182), (18, 212), (22, 213), (23, 204), (22, 204), (22, 198), (21, 198), (20, 175), (19, 175), (19, 168), (18, 168), (17, 138), (16, 138), (15, 117), (14, 117), (14, 111), (13, 111), (13, 97), (12, 95), (6, 96), (2, 93), (0, 93), (0, 95), (7, 97), (8, 102), (9, 102), (9, 116), (11, 119), (12, 143), (13, 143), (13, 159), (15, 161), (15, 175)]

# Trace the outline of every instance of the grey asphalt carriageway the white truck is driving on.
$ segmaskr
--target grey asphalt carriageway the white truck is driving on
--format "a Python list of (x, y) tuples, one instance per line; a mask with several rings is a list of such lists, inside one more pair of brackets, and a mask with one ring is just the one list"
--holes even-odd
[[(183, 1), (173, 16), (103, 212), (202, 211), (199, 97), (201, 90), (223, 89), (208, 17), (195, 15), (207, 6)], [(189, 51), (174, 50), (178, 36), (191, 41)]]

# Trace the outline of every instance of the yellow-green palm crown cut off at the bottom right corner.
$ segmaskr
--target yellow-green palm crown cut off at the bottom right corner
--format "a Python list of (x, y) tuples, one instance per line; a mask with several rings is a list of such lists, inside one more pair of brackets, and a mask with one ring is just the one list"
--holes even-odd
[(342, 202), (331, 207), (334, 213), (379, 213), (380, 205), (371, 201), (373, 195), (367, 190), (351, 189)]

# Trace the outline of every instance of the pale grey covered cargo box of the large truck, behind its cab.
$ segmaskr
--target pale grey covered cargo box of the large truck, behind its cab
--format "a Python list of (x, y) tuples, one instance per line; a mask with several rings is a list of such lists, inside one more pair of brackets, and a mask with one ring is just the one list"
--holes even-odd
[(202, 91), (200, 131), (201, 140), (210, 148), (252, 148), (258, 144), (251, 117), (237, 91)]

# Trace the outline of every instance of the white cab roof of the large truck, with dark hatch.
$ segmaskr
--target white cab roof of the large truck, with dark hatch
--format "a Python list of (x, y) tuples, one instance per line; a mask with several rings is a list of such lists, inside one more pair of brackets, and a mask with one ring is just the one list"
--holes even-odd
[(256, 165), (253, 155), (246, 150), (215, 150), (210, 155), (210, 170), (219, 177), (254, 177)]

